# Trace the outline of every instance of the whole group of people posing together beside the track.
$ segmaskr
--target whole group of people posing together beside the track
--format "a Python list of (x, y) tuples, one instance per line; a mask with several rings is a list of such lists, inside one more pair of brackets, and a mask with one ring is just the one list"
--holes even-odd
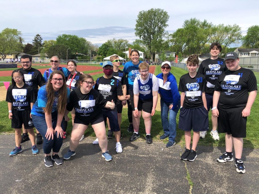
[(160, 139), (168, 137), (166, 147), (176, 144), (176, 116), (180, 110), (179, 128), (184, 130), (186, 142), (186, 149), (180, 159), (194, 161), (198, 141), (205, 138), (209, 129), (208, 112), (211, 109), (210, 135), (214, 140), (219, 140), (218, 132), (226, 134), (226, 152), (217, 161), (233, 161), (234, 144), (236, 170), (245, 173), (241, 155), (246, 135), (246, 118), (250, 115), (257, 94), (256, 78), (252, 71), (239, 66), (237, 53), (227, 53), (225, 59), (221, 59), (221, 50), (220, 44), (212, 43), (211, 58), (204, 60), (200, 67), (198, 56), (190, 55), (186, 65), (188, 73), (181, 76), (179, 87), (170, 72), (170, 62), (163, 62), (161, 73), (155, 76), (149, 73), (149, 64), (139, 60), (139, 53), (135, 49), (130, 52), (131, 60), (125, 63), (123, 71), (119, 70), (119, 56), (111, 56), (110, 61), (103, 63), (104, 75), (97, 80), (89, 74), (77, 72), (77, 64), (73, 60), (68, 61), (67, 68), (59, 67), (60, 59), (57, 56), (51, 58), (52, 68), (46, 70), (42, 77), (38, 70), (31, 68), (31, 57), (23, 55), (22, 68), (12, 73), (12, 85), (6, 97), (16, 140), (16, 147), (9, 155), (22, 152), (22, 125), (23, 136), (31, 140), (33, 154), (39, 152), (35, 145), (35, 126), (37, 139), (43, 137), (44, 140), (45, 166), (53, 166), (53, 161), (62, 164), (58, 152), (66, 138), (68, 113), (71, 112), (73, 129), (69, 149), (63, 159), (68, 160), (76, 154), (75, 149), (91, 124), (97, 137), (93, 145), (99, 144), (102, 157), (111, 161), (107, 137), (112, 138), (114, 134), (116, 153), (122, 153), (120, 125), (122, 107), (126, 103), (129, 119), (127, 130), (132, 132), (130, 141), (140, 137), (142, 115), (146, 143), (153, 143), (151, 118), (155, 114), (159, 95), (164, 131)]

